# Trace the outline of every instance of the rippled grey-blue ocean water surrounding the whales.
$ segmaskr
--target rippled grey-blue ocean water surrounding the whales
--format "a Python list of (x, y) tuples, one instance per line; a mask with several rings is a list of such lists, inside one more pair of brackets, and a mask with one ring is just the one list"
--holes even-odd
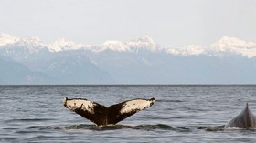
[[(62, 105), (82, 97), (111, 106), (155, 97), (155, 105), (97, 127)], [(256, 142), (254, 128), (222, 128), (256, 86), (0, 86), (0, 142)]]

